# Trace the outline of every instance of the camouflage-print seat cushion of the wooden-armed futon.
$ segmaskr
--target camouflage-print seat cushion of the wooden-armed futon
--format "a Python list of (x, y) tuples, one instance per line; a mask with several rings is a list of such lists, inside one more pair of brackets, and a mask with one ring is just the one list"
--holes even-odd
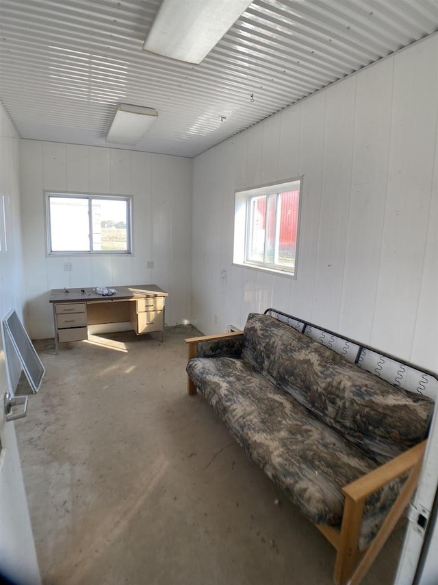
[[(376, 468), (283, 390), (233, 358), (195, 358), (188, 374), (264, 472), (309, 520), (337, 524), (342, 486)], [(380, 494), (369, 507), (382, 507)]]

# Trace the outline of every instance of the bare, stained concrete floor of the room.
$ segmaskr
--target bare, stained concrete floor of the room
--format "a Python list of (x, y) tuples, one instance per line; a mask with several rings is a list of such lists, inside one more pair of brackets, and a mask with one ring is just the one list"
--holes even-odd
[[(329, 542), (185, 394), (188, 335), (36, 344), (46, 375), (16, 432), (44, 584), (332, 583)], [(365, 584), (392, 583), (402, 538)]]

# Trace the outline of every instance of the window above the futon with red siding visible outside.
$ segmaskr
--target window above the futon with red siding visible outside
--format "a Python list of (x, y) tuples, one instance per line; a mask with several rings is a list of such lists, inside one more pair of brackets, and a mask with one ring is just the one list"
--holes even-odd
[(301, 180), (235, 193), (234, 259), (296, 274)]

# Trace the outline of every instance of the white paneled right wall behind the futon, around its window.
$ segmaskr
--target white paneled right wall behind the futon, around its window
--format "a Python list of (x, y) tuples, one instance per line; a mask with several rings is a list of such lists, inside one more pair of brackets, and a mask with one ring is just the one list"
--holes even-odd
[[(192, 322), (273, 306), (437, 370), (438, 36), (194, 160)], [(232, 265), (235, 189), (302, 175), (298, 276)]]

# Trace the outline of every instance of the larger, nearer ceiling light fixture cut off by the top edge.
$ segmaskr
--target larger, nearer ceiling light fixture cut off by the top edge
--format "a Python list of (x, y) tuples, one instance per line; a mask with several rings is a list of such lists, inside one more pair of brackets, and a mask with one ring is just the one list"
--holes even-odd
[(144, 51), (200, 64), (253, 0), (163, 0)]

